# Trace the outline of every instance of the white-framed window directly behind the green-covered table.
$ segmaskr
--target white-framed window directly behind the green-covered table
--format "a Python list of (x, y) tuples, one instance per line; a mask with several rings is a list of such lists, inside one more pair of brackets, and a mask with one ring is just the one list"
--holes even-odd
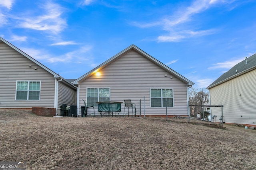
[(87, 103), (97, 106), (96, 102), (109, 102), (109, 88), (87, 88)]

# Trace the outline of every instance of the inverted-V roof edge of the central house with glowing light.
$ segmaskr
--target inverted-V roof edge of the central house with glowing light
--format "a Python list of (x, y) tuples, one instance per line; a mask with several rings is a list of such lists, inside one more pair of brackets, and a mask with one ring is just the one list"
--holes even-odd
[(142, 55), (143, 57), (145, 57), (146, 59), (148, 59), (152, 63), (156, 64), (160, 68), (166, 70), (167, 72), (169, 72), (170, 74), (172, 74), (176, 78), (180, 79), (182, 82), (186, 83), (188, 86), (194, 85), (194, 83), (192, 81), (190, 81), (187, 78), (185, 78), (184, 76), (178, 74), (178, 72), (172, 70), (170, 67), (168, 67), (165, 64), (161, 63), (160, 61), (158, 61), (154, 57), (148, 55), (147, 53), (145, 53), (144, 51), (142, 51), (140, 48), (138, 48), (136, 45), (133, 45), (133, 44), (130, 45), (129, 47), (127, 47), (126, 49), (124, 49), (123, 51), (121, 51), (120, 53), (114, 55), (113, 57), (111, 57), (110, 59), (105, 61), (104, 63), (100, 64), (96, 68), (90, 70), (89, 72), (87, 72), (86, 74), (81, 76), (80, 78), (76, 79), (73, 82), (73, 84), (78, 84), (79, 82), (81, 82), (81, 81), (85, 80), (86, 78), (92, 76), (93, 74), (95, 74), (96, 72), (98, 72), (102, 68), (108, 66), (109, 64), (113, 63), (114, 61), (116, 61), (117, 59), (119, 59), (120, 57), (122, 57), (123, 55), (125, 55), (126, 53), (128, 53), (131, 50), (136, 51), (137, 53), (139, 53), (140, 55)]

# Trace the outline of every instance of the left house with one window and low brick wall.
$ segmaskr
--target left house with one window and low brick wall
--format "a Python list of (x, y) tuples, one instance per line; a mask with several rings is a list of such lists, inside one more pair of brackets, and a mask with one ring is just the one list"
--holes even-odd
[(59, 113), (60, 105), (76, 104), (72, 83), (1, 37), (0, 82), (0, 108), (46, 107)]

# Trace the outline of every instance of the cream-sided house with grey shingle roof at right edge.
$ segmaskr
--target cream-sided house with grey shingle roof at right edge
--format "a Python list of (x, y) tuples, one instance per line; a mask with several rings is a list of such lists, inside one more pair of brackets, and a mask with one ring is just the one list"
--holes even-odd
[[(256, 54), (236, 64), (215, 80), (210, 90), (211, 105), (223, 104), (223, 121), (256, 125)], [(221, 108), (211, 107), (216, 121), (221, 121)]]

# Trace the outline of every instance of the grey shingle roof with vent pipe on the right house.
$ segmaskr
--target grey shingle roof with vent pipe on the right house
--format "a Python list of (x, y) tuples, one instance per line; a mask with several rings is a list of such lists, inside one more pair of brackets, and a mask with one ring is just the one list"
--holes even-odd
[(214, 86), (222, 84), (254, 69), (256, 69), (256, 54), (233, 66), (230, 70), (222, 74), (217, 80), (210, 84), (207, 89), (213, 88)]

